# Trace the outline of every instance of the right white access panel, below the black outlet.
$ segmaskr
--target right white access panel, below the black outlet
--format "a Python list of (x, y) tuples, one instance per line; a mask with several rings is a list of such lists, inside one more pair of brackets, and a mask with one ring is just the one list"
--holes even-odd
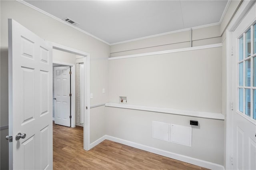
[(171, 124), (171, 142), (185, 146), (192, 145), (192, 128)]

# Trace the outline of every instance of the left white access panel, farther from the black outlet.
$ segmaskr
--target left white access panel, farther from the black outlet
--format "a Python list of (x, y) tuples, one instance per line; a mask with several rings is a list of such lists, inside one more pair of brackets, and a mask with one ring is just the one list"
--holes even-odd
[(170, 141), (170, 124), (152, 121), (152, 138)]

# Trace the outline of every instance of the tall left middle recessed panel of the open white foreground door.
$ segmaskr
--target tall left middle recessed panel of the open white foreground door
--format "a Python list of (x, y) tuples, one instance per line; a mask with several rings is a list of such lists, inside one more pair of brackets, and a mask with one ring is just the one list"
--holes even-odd
[(34, 69), (21, 67), (22, 70), (22, 91), (23, 91), (23, 123), (34, 118)]

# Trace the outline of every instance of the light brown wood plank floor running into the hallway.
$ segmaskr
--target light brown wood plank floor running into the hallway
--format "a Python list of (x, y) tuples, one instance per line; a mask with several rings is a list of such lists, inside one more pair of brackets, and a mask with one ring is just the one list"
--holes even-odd
[(104, 140), (89, 151), (83, 150), (83, 128), (53, 124), (54, 170), (207, 170), (171, 158)]

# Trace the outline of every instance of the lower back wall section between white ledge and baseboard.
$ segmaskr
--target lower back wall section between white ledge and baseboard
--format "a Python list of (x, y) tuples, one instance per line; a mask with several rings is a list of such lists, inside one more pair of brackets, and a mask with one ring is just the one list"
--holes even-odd
[[(106, 107), (106, 134), (164, 151), (223, 164), (224, 121)], [(190, 120), (199, 126), (190, 126)], [(152, 138), (152, 121), (192, 127), (192, 147)]]

